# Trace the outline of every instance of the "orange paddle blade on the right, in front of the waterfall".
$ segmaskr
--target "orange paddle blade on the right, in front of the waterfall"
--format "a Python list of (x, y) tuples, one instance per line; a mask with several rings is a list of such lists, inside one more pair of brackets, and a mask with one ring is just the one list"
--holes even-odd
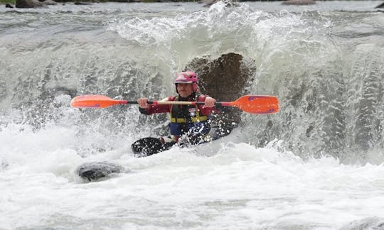
[(247, 95), (230, 103), (250, 114), (273, 114), (279, 111), (279, 99), (273, 96)]

